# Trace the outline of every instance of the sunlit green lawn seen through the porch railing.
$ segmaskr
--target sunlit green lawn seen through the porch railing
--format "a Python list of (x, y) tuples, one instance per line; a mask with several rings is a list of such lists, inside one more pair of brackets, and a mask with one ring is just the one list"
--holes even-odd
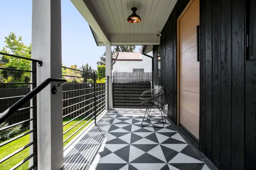
[[(73, 120), (72, 122), (70, 122), (69, 124), (65, 125), (63, 127), (63, 132), (65, 132), (66, 130), (68, 130), (71, 126), (73, 126), (74, 124), (76, 124), (77, 122), (81, 121), (83, 119), (83, 117), (81, 118), (77, 118), (75, 120)], [(82, 125), (84, 125), (90, 118), (87, 118), (86, 120), (83, 120), (80, 124), (78, 124), (77, 126), (75, 126), (73, 129), (71, 129), (69, 132), (67, 132), (64, 136), (63, 136), (63, 140), (65, 140), (68, 136), (70, 136), (72, 133), (74, 133), (77, 129), (79, 129)], [(64, 118), (63, 119), (63, 124), (66, 123), (67, 121), (69, 121), (68, 118)], [(91, 120), (92, 121), (92, 120)], [(91, 122), (90, 121), (90, 122)], [(82, 129), (80, 129), (78, 132), (75, 133), (75, 135), (73, 135), (69, 140), (67, 140), (63, 146), (67, 145), (69, 141), (71, 141), (78, 133), (80, 133), (89, 123), (87, 123)], [(12, 152), (18, 150), (19, 148), (24, 147), (25, 145), (27, 145), (29, 143), (29, 135), (26, 135), (22, 138), (19, 138), (11, 143), (8, 143), (7, 145), (3, 146), (0, 148), (0, 159), (4, 158), (5, 156), (11, 154)], [(25, 159), (26, 157), (28, 157), (29, 155), (29, 148), (26, 148), (25, 150), (19, 152), (18, 154), (14, 155), (13, 157), (11, 157), (10, 159), (6, 160), (5, 162), (3, 162), (2, 164), (0, 164), (0, 170), (8, 170), (10, 168), (12, 168), (13, 166), (15, 166), (17, 163), (19, 163), (20, 161), (22, 161), (23, 159)], [(21, 165), (19, 168), (17, 168), (18, 170), (25, 170), (28, 169), (28, 162), (24, 163), (23, 165)]]

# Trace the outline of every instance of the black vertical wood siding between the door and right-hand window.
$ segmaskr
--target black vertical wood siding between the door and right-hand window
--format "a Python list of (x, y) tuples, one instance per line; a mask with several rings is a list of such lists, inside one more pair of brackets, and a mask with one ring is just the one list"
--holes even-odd
[(245, 169), (243, 0), (200, 0), (201, 151), (219, 169)]

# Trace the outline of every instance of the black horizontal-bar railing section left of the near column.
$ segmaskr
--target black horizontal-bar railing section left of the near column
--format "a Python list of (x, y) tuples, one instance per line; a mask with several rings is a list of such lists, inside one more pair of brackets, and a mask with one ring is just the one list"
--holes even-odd
[[(5, 66), (0, 67), (0, 169), (34, 168), (37, 166), (35, 95), (42, 90), (36, 88), (36, 67), (42, 66), (42, 61), (3, 52), (0, 55), (8, 59)], [(31, 61), (27, 63), (32, 67), (9, 66), (9, 60)]]

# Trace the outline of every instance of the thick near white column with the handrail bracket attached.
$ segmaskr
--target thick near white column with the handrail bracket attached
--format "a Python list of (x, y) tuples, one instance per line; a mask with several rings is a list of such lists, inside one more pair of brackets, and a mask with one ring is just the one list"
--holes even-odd
[[(61, 0), (32, 1), (31, 57), (37, 66), (37, 85), (47, 78), (61, 79)], [(52, 83), (37, 96), (38, 169), (60, 170), (63, 163), (62, 87), (52, 95)]]

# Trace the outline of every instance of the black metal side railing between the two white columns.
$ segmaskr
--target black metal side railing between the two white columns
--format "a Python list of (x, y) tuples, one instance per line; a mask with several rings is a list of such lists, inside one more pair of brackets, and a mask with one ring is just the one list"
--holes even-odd
[[(108, 109), (109, 77), (74, 68), (62, 67), (63, 144), (65, 149), (78, 134)], [(68, 144), (68, 145), (67, 145)], [(67, 146), (66, 146), (67, 145)]]

